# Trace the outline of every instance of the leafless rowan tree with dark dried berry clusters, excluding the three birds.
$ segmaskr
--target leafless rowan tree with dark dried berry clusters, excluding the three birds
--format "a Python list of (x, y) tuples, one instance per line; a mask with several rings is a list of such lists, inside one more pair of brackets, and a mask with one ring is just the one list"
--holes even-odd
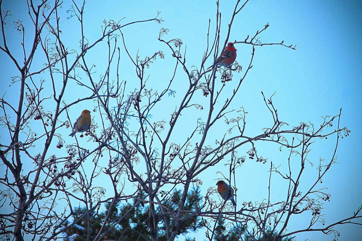
[[(289, 125), (279, 119), (278, 103), (262, 92), (259, 98), (269, 121), (262, 130), (249, 131), (249, 110), (238, 98), (251, 69), (262, 68), (253, 67), (254, 55), (265, 48), (293, 51), (295, 46), (280, 39), (261, 42), (268, 23), (254, 34), (230, 39), (247, 3), (236, 1), (228, 27), (222, 29), (216, 2), (213, 24), (205, 30), (204, 54), (189, 63), (182, 36), (169, 38), (161, 25), (157, 39), (143, 36), (144, 43), (162, 43), (161, 49), (130, 43), (127, 28), (135, 32), (148, 23), (162, 24), (159, 13), (139, 21), (104, 20), (94, 37), (85, 28), (90, 4), (85, 1), (28, 0), (21, 5), (28, 15), (16, 19), (0, 0), (0, 56), (15, 69), (14, 77), (2, 83), (0, 98), (1, 239), (62, 240), (64, 233), (79, 231), (94, 241), (122, 240), (135, 233), (137, 240), (173, 241), (190, 228), (202, 227), (211, 241), (222, 239), (217, 223), (223, 219), (240, 240), (291, 240), (311, 231), (332, 233), (337, 240), (338, 224), (361, 225), (361, 206), (335, 223), (324, 219), (323, 203), (331, 195), (319, 184), (336, 162), (336, 150), (328, 160), (321, 159), (317, 175), (303, 183), (315, 142), (334, 138), (337, 148), (349, 135), (350, 130), (340, 126), (341, 112), (320, 123)], [(17, 48), (9, 47), (14, 31), (20, 39)], [(249, 46), (249, 63), (207, 69), (228, 42), (236, 48)], [(141, 55), (138, 47), (150, 54)], [(97, 61), (103, 65), (97, 67)], [(164, 68), (152, 71), (160, 61), (165, 61)], [(175, 83), (181, 80), (182, 87)], [(84, 136), (68, 137), (84, 109), (92, 111), (90, 129)], [(289, 157), (268, 161), (260, 155), (261, 143)], [(237, 179), (248, 172), (245, 162), (270, 164), (268, 192), (256, 202), (247, 196), (238, 202), (242, 187)], [(211, 173), (215, 166), (229, 171)], [(272, 175), (286, 195), (270, 198)], [(238, 206), (220, 199), (214, 186), (203, 187), (202, 176), (233, 186)], [(190, 195), (192, 190), (200, 193)], [(306, 227), (288, 228), (291, 218), (305, 213), (310, 214)], [(136, 231), (137, 225), (142, 227)]]

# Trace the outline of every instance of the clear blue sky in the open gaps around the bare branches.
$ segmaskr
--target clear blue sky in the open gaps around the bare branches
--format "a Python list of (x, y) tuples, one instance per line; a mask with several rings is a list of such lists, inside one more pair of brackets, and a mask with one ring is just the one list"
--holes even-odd
[[(67, 36), (66, 44), (72, 48), (79, 48), (80, 33), (75, 18), (64, 19), (67, 16), (65, 11), (71, 4), (71, 1), (67, 0), (63, 3), (63, 31), (64, 36)], [(24, 13), (24, 8), (20, 4), (14, 5), (13, 1), (5, 0), (4, 6), (12, 9), (14, 18), (22, 20), (21, 14)], [(221, 39), (226, 36), (230, 14), (234, 7), (234, 1), (220, 0)], [(87, 1), (85, 34), (88, 36), (89, 42), (92, 42), (100, 36), (104, 19), (119, 20), (126, 17), (121, 22), (126, 23), (153, 18), (157, 11), (161, 12), (160, 17), (164, 22), (139, 24), (124, 29), (123, 34), (126, 44), (132, 46), (131, 54), (133, 56), (138, 50), (141, 57), (152, 55), (158, 50), (164, 51), (165, 59), (156, 60), (149, 72), (150, 85), (164, 86), (161, 81), (167, 83), (168, 79), (163, 79), (163, 77), (169, 76), (167, 64), (173, 60), (168, 49), (157, 40), (159, 30), (161, 28), (170, 30), (167, 37), (164, 37), (165, 39), (182, 39), (184, 46), (187, 46), (186, 64), (189, 67), (199, 66), (206, 47), (209, 18), (211, 18), (211, 24), (215, 23), (215, 1)], [(237, 96), (238, 99), (232, 106), (233, 108), (243, 106), (248, 112), (249, 134), (260, 132), (270, 118), (261, 91), (266, 97), (270, 97), (275, 92), (273, 103), (278, 109), (279, 118), (290, 126), (308, 121), (319, 126), (322, 121), (321, 116), (337, 115), (342, 108), (341, 126), (348, 126), (352, 132), (348, 138), (340, 139), (337, 149), (339, 163), (332, 166), (320, 185), (320, 187), (328, 187), (328, 193), (332, 194), (331, 201), (325, 204), (323, 210), (327, 225), (344, 217), (352, 216), (353, 211), (358, 208), (362, 200), (361, 16), (362, 4), (360, 1), (250, 0), (235, 18), (230, 34), (230, 42), (244, 41), (247, 35), (255, 34), (269, 22), (270, 27), (260, 35), (262, 43), (275, 43), (283, 40), (286, 45), (296, 45), (296, 50), (283, 46), (256, 47), (253, 68), (244, 80), (241, 92)], [(14, 40), (18, 37), (18, 35), (9, 36)], [(221, 42), (223, 43), (223, 40)], [(14, 51), (20, 51), (21, 54), (19, 46), (19, 41), (14, 41), (10, 45)], [(252, 47), (243, 44), (236, 44), (235, 47), (237, 49), (236, 60), (246, 70)], [(94, 60), (98, 69), (102, 69), (102, 56), (106, 56), (106, 52), (102, 52), (101, 49), (99, 48), (98, 52), (89, 53), (88, 56), (90, 62)], [(91, 60), (92, 58), (94, 59)], [(4, 86), (4, 89), (0, 88), (2, 89), (0, 94), (3, 95), (7, 91), (8, 94), (16, 96), (17, 93), (6, 90), (10, 77), (13, 76), (9, 71), (13, 67), (8, 64), (9, 59), (0, 53), (0, 83)], [(208, 64), (211, 65), (211, 62)], [(170, 66), (172, 65), (170, 64)], [(126, 60), (124, 67), (122, 78), (127, 81), (135, 79), (134, 68), (130, 63), (126, 63)], [(129, 71), (127, 71), (128, 68)], [(235, 75), (235, 78), (240, 79), (242, 74)], [(177, 91), (176, 99), (178, 93), (182, 96), (187, 83), (187, 79), (180, 76), (177, 84), (172, 86), (172, 89)], [(77, 94), (76, 88), (70, 90), (70, 96), (67, 97), (69, 102), (73, 100), (72, 94)], [(93, 105), (93, 103), (89, 102), (89, 105)], [(166, 108), (168, 107), (174, 108), (174, 103), (166, 106)], [(87, 108), (82, 107), (81, 109)], [(77, 109), (70, 110), (70, 114), (74, 116), (79, 116), (78, 112)], [(194, 126), (194, 123), (191, 125)], [(67, 131), (69, 132), (69, 129), (64, 130), (64, 134)], [(218, 138), (217, 133), (215, 138)], [(326, 160), (332, 157), (334, 141), (334, 138), (321, 140), (312, 147), (310, 160), (315, 161), (315, 165), (308, 167), (311, 171), (315, 171), (317, 168), (319, 157)], [(269, 178), (270, 161), (278, 162), (279, 157), (285, 157), (283, 154), (278, 156), (279, 154), (273, 151), (269, 153), (269, 150), (277, 148), (275, 145), (265, 145), (258, 149), (263, 157), (268, 157), (267, 164), (249, 163), (247, 160), (243, 165), (243, 169), (239, 173), (240, 178), (237, 179), (238, 204), (265, 197), (268, 187), (265, 180)], [(247, 154), (241, 153), (240, 155)], [(202, 191), (206, 192), (209, 186), (215, 186), (214, 179), (221, 178), (216, 175), (216, 171), (222, 169), (222, 166), (210, 169), (210, 172), (215, 173), (215, 178), (212, 179), (206, 175), (200, 176), (203, 181)], [(278, 178), (275, 176), (275, 179)], [(276, 183), (276, 185), (283, 185), (282, 182)], [(256, 189), (256, 186), (260, 189)], [(277, 191), (283, 187), (274, 186), (274, 188)], [(290, 231), (294, 228), (302, 228), (303, 219), (293, 221), (294, 223), (291, 223), (289, 227)], [(357, 225), (340, 225), (336, 228), (341, 231), (340, 241), (362, 240), (362, 228)], [(197, 240), (202, 240), (205, 235), (203, 232), (199, 232), (197, 237)], [(301, 233), (296, 237), (299, 241), (308, 238), (310, 241), (333, 239), (332, 235), (311, 232)]]

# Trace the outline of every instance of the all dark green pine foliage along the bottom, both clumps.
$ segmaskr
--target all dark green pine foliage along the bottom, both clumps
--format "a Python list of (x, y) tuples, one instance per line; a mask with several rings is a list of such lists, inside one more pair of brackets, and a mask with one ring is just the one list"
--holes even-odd
[[(181, 200), (181, 191), (175, 190), (172, 196), (166, 199), (163, 202), (164, 208), (170, 210), (176, 210), (178, 204)], [(139, 198), (146, 200), (146, 195), (142, 193)], [(185, 210), (198, 211), (199, 206), (198, 202), (200, 200), (200, 191), (199, 189), (191, 190), (188, 194), (188, 198), (185, 203)], [(149, 206), (145, 202), (138, 203), (138, 199), (134, 199), (132, 203), (121, 204), (117, 203), (110, 210), (110, 203), (105, 204), (105, 211), (100, 212), (96, 215), (94, 213), (89, 213), (77, 223), (75, 227), (68, 229), (67, 237), (64, 238), (65, 241), (86, 241), (89, 236), (89, 240), (93, 240), (99, 231), (101, 230), (102, 225), (105, 222), (106, 216), (110, 214), (110, 218), (106, 222), (104, 231), (108, 231), (102, 240), (122, 240), (122, 241), (144, 241), (152, 240), (152, 237), (149, 234), (149, 224), (148, 224), (148, 215), (149, 215)], [(157, 211), (161, 213), (160, 207), (157, 208)], [(75, 213), (75, 220), (79, 219), (85, 213), (87, 213), (86, 208), (76, 207), (73, 209)], [(126, 214), (126, 215), (125, 215)], [(187, 234), (190, 232), (197, 231), (199, 228), (202, 228), (202, 223), (200, 222), (197, 216), (188, 217), (188, 213), (185, 212), (184, 221), (180, 225), (177, 233)], [(91, 218), (93, 217), (93, 218)], [(119, 217), (123, 217), (119, 220)], [(166, 217), (170, 221), (170, 229), (174, 228), (174, 220), (172, 216)], [(90, 221), (88, 221), (90, 220)], [(70, 222), (67, 222), (65, 226), (70, 225)], [(88, 227), (89, 226), (89, 227)], [(215, 228), (215, 241), (239, 241), (240, 235), (243, 236), (244, 241), (294, 241), (291, 237), (279, 238), (277, 237), (277, 232), (271, 232), (271, 230), (266, 231), (264, 237), (252, 237), (245, 234), (245, 228), (239, 227), (239, 231), (236, 227), (230, 229), (227, 228), (226, 220), (219, 218), (217, 220), (217, 225)], [(167, 241), (165, 235), (166, 225), (163, 217), (159, 218), (159, 240)], [(240, 232), (240, 233), (239, 233)], [(104, 232), (102, 232), (104, 234)], [(196, 241), (194, 237), (186, 237), (185, 241)]]

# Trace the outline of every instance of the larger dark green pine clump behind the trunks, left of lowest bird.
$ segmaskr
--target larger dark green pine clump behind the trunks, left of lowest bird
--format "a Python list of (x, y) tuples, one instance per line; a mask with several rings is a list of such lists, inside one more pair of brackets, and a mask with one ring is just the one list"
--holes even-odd
[[(165, 199), (163, 202), (164, 208), (170, 210), (176, 210), (179, 206), (179, 202), (181, 200), (181, 191), (175, 190), (172, 196), (168, 199)], [(143, 200), (147, 200), (145, 198), (145, 194), (142, 193), (140, 198)], [(199, 189), (191, 190), (188, 194), (188, 198), (185, 203), (185, 210), (197, 211), (199, 210), (199, 200), (200, 200), (200, 191)], [(149, 224), (148, 224), (148, 215), (149, 215), (149, 206), (147, 202), (140, 202), (136, 204), (138, 199), (134, 199), (133, 203), (121, 204), (117, 203), (111, 212), (110, 218), (106, 223), (106, 228), (104, 231), (108, 231), (104, 235), (104, 240), (122, 240), (122, 241), (144, 241), (144, 240), (152, 240), (152, 237), (149, 234)], [(145, 204), (146, 203), (146, 204)], [(67, 231), (67, 237), (64, 238), (65, 241), (85, 241), (87, 240), (87, 236), (89, 236), (90, 240), (97, 236), (100, 231), (102, 225), (104, 224), (105, 218), (109, 212), (110, 203), (105, 204), (105, 211), (100, 212), (97, 215), (92, 215), (90, 213), (88, 216), (94, 218), (87, 218), (85, 216), (81, 219), (79, 223), (77, 223), (77, 227), (72, 227)], [(161, 213), (160, 207), (157, 207), (157, 211)], [(84, 213), (87, 213), (85, 208), (77, 207), (73, 209), (75, 213), (75, 219), (79, 219)], [(126, 214), (126, 215), (125, 215)], [(184, 217), (189, 216), (189, 213), (185, 212)], [(123, 217), (119, 220), (119, 217)], [(166, 217), (170, 221), (170, 229), (174, 228), (174, 218), (170, 215)], [(88, 221), (90, 220), (90, 221)], [(117, 223), (118, 222), (118, 223)], [(88, 229), (89, 223), (89, 229)], [(67, 222), (65, 226), (70, 225), (70, 222)], [(114, 225), (116, 224), (116, 225)], [(114, 226), (113, 228), (111, 228)], [(185, 218), (183, 223), (180, 225), (177, 233), (186, 234), (189, 232), (197, 231), (197, 229), (203, 227), (199, 218), (197, 216), (192, 216)], [(163, 217), (159, 217), (159, 240), (167, 241), (167, 237), (165, 235), (166, 225)], [(186, 237), (185, 241), (195, 241), (194, 238)]]

